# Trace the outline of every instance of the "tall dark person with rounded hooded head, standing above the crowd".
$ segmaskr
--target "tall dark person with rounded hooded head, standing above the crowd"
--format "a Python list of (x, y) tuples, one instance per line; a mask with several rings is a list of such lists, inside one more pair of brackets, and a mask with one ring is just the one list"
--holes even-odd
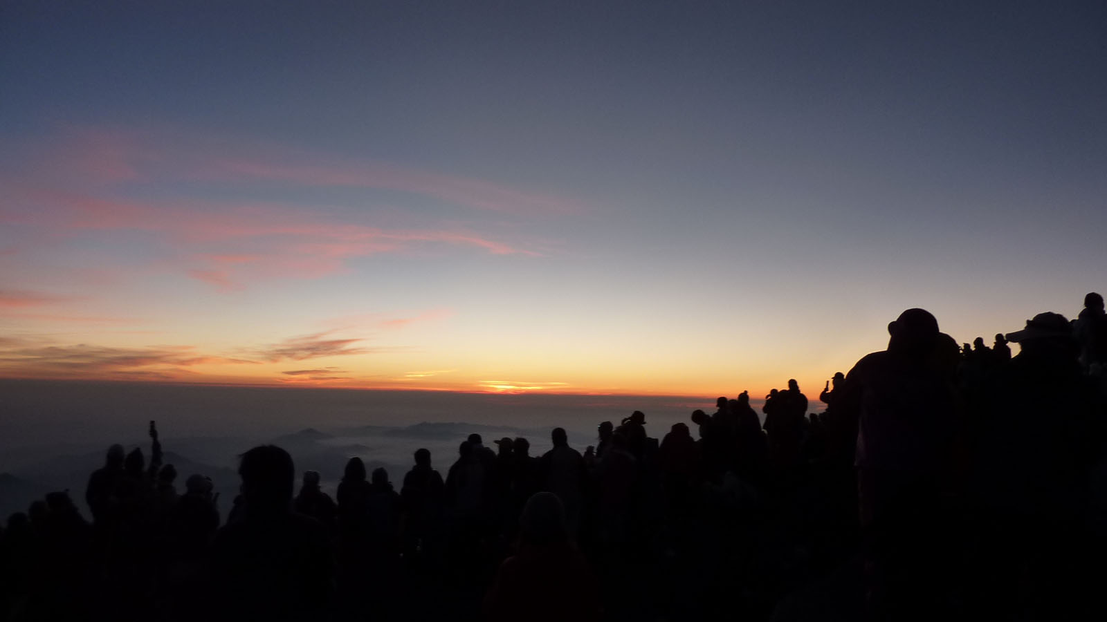
[(917, 619), (934, 615), (943, 597), (937, 567), (948, 540), (943, 477), (959, 421), (955, 361), (935, 354), (948, 341), (923, 309), (903, 311), (888, 332), (888, 349), (866, 355), (846, 375), (835, 408), (859, 422), (869, 613)]

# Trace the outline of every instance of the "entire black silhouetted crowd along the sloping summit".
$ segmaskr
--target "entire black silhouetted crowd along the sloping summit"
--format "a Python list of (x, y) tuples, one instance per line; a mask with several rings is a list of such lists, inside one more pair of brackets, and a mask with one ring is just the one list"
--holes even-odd
[[(4, 619), (1083, 620), (1104, 618), (1107, 317), (959, 346), (921, 309), (836, 373), (720, 397), (661, 440), (635, 411), (583, 454), (472, 434), (443, 478), (399, 491), (345, 465), (335, 497), (263, 445), (220, 526), (211, 481), (177, 488), (120, 445), (0, 535)], [(1008, 342), (1021, 351), (1012, 356)], [(764, 423), (763, 423), (764, 422)]]

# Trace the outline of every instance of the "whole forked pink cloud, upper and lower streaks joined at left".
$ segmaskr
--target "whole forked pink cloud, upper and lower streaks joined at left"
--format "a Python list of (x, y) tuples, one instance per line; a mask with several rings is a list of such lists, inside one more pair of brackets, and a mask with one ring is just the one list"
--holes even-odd
[(6, 188), (0, 224), (30, 227), (58, 243), (90, 231), (153, 237), (172, 258), (162, 265), (175, 263), (172, 269), (178, 273), (219, 292), (258, 280), (325, 277), (348, 270), (351, 259), (381, 253), (438, 252), (444, 247), (492, 255), (541, 253), (534, 245), (496, 239), (472, 227), (376, 227), (365, 221), (366, 216), (346, 211), (339, 217), (327, 206), (141, 200), (124, 198), (124, 190), (137, 182), (144, 191), (159, 183), (180, 187), (179, 182), (246, 185), (247, 191), (296, 185), (408, 193), (498, 215), (579, 210), (569, 199), (487, 180), (379, 162), (338, 162), (196, 132), (65, 127), (38, 152), (27, 158), (24, 170), (0, 179)]

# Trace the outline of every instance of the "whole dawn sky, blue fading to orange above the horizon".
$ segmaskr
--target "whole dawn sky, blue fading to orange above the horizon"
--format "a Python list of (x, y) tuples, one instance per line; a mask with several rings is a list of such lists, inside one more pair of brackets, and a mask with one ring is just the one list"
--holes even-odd
[(817, 394), (1074, 318), (1103, 2), (0, 6), (0, 376)]

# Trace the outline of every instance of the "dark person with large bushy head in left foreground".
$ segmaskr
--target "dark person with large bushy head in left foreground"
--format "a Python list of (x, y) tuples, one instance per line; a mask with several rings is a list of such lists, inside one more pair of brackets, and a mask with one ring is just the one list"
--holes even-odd
[(225, 620), (311, 620), (322, 615), (334, 576), (323, 526), (292, 511), (296, 467), (288, 452), (260, 445), (241, 455), (244, 511), (211, 543), (217, 600)]

